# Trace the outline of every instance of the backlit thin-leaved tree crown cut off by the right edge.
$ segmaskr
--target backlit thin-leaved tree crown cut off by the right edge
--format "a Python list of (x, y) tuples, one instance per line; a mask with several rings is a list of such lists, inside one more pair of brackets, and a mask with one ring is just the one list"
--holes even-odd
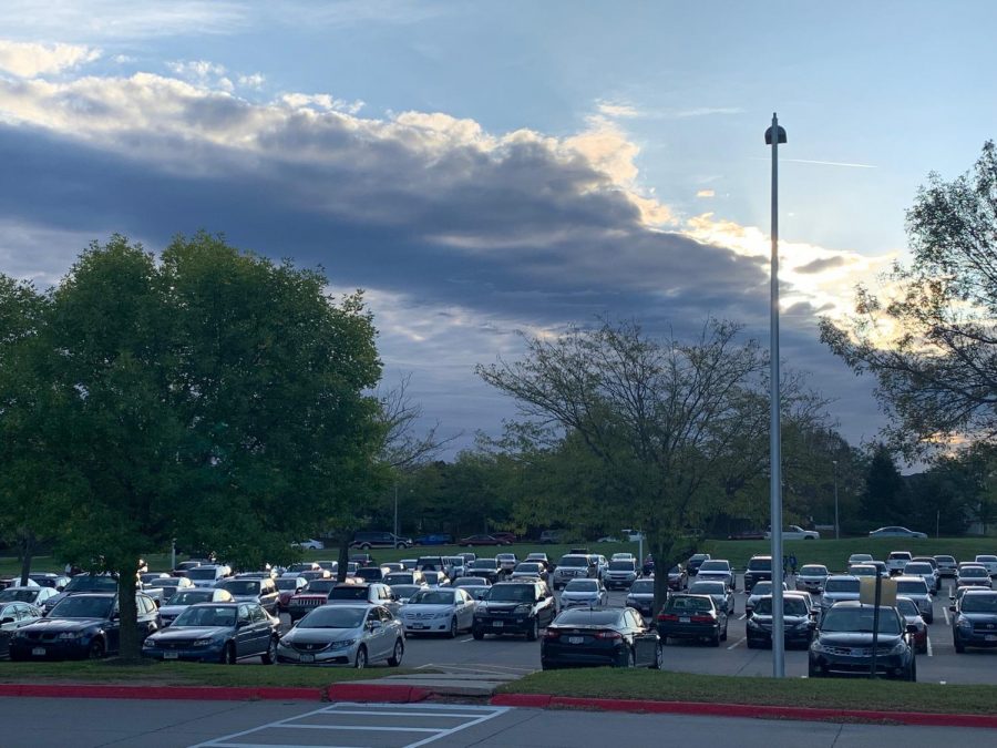
[(972, 173), (921, 187), (907, 212), (913, 260), (887, 275), (891, 297), (860, 288), (856, 315), (821, 338), (877, 381), (888, 436), (907, 454), (959, 434), (997, 436), (997, 146)]

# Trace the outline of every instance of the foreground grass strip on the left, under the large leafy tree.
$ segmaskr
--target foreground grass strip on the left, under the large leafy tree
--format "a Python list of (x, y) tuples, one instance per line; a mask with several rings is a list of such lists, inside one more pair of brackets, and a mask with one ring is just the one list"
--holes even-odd
[[(425, 670), (419, 670), (424, 673)], [(343, 680), (372, 680), (389, 675), (412, 674), (398, 667), (370, 667), (363, 670), (339, 667), (284, 667), (247, 665), (206, 665), (201, 663), (160, 663), (138, 665), (104, 662), (10, 663), (0, 664), (0, 683), (100, 683), (154, 686), (294, 686), (321, 688)]]

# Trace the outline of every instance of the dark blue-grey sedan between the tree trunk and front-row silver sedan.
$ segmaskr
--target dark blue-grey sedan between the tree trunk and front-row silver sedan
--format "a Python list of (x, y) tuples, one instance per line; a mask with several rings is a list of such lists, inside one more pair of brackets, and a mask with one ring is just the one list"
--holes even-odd
[(142, 654), (153, 659), (182, 659), (235, 665), (246, 657), (277, 662), (280, 621), (259, 603), (197, 603), (169, 628), (145, 639)]

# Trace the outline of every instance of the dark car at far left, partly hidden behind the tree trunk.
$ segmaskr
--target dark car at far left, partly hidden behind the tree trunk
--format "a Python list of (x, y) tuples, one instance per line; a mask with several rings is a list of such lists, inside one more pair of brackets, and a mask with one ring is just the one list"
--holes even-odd
[[(135, 595), (140, 638), (158, 628), (153, 598)], [(10, 658), (100, 659), (119, 649), (121, 619), (117, 594), (76, 593), (64, 597), (49, 615), (21, 626), (10, 641)]]

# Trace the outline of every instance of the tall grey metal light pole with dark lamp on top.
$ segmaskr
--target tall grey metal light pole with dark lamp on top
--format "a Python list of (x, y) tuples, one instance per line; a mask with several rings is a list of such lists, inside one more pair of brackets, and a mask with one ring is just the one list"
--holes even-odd
[(785, 130), (772, 112), (772, 126), (765, 131), (765, 145), (772, 146), (772, 278), (769, 299), (769, 500), (772, 527), (772, 675), (785, 677), (785, 622), (782, 615), (782, 454), (779, 423), (779, 144), (785, 143)]

